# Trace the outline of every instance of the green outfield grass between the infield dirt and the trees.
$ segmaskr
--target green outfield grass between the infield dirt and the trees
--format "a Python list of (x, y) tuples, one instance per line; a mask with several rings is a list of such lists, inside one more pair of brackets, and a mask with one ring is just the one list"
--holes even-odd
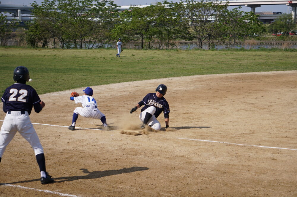
[(175, 76), (297, 70), (297, 52), (283, 50), (28, 49), (0, 47), (0, 92), (23, 65), (38, 94)]

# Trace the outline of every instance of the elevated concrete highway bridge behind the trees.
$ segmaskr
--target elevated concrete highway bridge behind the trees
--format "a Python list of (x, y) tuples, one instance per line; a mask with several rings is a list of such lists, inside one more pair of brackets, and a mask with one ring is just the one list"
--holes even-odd
[[(226, 4), (227, 1), (222, 1), (221, 4)], [(251, 8), (252, 12), (256, 12), (256, 7), (260, 7), (261, 5), (287, 5), (292, 7), (292, 16), (296, 22), (296, 8), (297, 8), (297, 0), (232, 0), (229, 1), (229, 6), (247, 6)], [(147, 7), (149, 5), (140, 5), (134, 7)], [(31, 15), (31, 10), (33, 7), (29, 5), (11, 5), (11, 4), (1, 4), (0, 1), (0, 12), (11, 12), (12, 16), (8, 17), (9, 20), (16, 19), (19, 21), (30, 21), (33, 20), (32, 16), (21, 16), (21, 14)], [(119, 11), (129, 10), (130, 6), (120, 6)], [(267, 15), (260, 15), (259, 19), (265, 18), (267, 19)], [(276, 19), (279, 15), (269, 16), (271, 19)]]

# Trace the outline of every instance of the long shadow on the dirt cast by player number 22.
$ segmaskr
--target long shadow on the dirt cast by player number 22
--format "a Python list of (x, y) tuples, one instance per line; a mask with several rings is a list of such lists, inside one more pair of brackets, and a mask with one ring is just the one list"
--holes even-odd
[[(65, 182), (65, 181), (74, 181), (74, 180), (80, 180), (80, 179), (97, 179), (101, 177), (106, 177), (106, 176), (112, 176), (116, 174), (123, 174), (123, 173), (131, 173), (131, 172), (136, 172), (136, 171), (142, 171), (142, 170), (148, 170), (149, 168), (147, 167), (131, 167), (131, 168), (122, 168), (119, 170), (103, 170), (103, 171), (93, 171), (89, 172), (88, 169), (80, 169), (85, 173), (86, 175), (82, 176), (69, 176), (69, 177), (53, 177), (55, 182)], [(34, 182), (34, 181), (40, 181), (40, 179), (32, 179), (32, 180), (25, 180), (25, 181), (17, 181), (17, 182), (11, 182), (11, 183), (6, 183), (6, 184), (17, 184), (17, 183), (26, 183), (26, 182)]]

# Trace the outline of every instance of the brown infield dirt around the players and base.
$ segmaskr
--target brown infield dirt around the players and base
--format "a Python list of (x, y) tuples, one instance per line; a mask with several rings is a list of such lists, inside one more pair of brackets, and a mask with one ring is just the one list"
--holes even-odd
[[(129, 135), (143, 131), (138, 129), (140, 109), (133, 114), (130, 109), (159, 84), (168, 87), (170, 131), (164, 131), (161, 114), (162, 131)], [(75, 91), (82, 94), (84, 88)], [(40, 184), (34, 152), (16, 134), (0, 164), (0, 183), (42, 191), (0, 185), (1, 197), (59, 196), (44, 190), (81, 197), (297, 196), (297, 71), (175, 77), (92, 88), (99, 110), (116, 130), (39, 125), (69, 126), (73, 109), (80, 106), (69, 100), (74, 90), (40, 95), (45, 108), (39, 114), (33, 110), (30, 117), (39, 123), (34, 128), (55, 182)], [(2, 112), (0, 119), (4, 117)], [(102, 129), (101, 125), (100, 120), (81, 116), (76, 123), (83, 128)]]

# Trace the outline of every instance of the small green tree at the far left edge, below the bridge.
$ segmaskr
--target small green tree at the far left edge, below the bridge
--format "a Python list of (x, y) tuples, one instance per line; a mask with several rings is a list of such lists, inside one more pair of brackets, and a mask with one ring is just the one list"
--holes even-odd
[(5, 46), (8, 36), (11, 34), (12, 29), (16, 28), (18, 22), (16, 20), (8, 21), (5, 16), (6, 12), (0, 13), (0, 46)]

